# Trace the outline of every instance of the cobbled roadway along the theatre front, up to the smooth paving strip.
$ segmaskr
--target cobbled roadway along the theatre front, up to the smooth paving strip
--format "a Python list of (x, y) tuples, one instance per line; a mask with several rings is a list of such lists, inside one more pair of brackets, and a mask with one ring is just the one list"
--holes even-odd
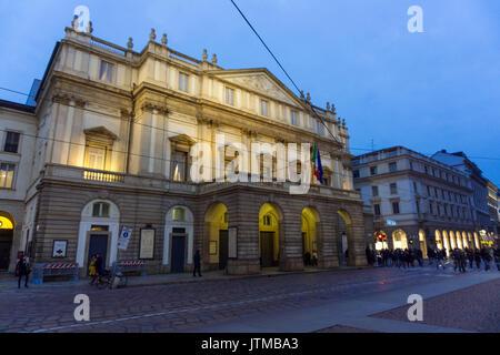
[[(427, 283), (451, 272), (432, 267), (252, 277), (96, 290), (89, 285), (0, 291), (0, 332), (189, 332), (228, 320), (272, 315), (350, 295)], [(442, 278), (441, 278), (442, 280)], [(90, 322), (73, 318), (77, 294), (90, 297)]]

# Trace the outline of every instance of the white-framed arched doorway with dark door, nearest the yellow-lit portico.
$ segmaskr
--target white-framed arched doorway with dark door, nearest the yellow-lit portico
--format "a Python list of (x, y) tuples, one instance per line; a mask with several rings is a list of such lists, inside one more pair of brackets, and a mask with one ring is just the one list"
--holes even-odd
[(192, 264), (193, 223), (191, 210), (173, 206), (167, 212), (163, 242), (163, 265), (170, 263), (170, 272), (180, 273)]

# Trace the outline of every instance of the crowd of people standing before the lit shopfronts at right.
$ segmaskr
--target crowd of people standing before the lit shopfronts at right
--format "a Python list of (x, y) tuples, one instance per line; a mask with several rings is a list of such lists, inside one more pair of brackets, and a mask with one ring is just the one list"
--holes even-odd
[[(429, 258), (429, 265), (436, 263), (436, 268), (446, 268), (444, 262), (448, 260), (448, 254), (446, 248), (428, 248), (427, 255)], [(469, 268), (481, 270), (481, 265), (484, 265), (484, 271), (491, 268), (491, 261), (494, 260), (498, 271), (500, 271), (500, 246), (497, 248), (490, 248), (483, 246), (480, 250), (473, 250), (466, 247), (453, 248), (450, 251), (450, 258), (453, 261), (454, 271), (461, 273), (466, 272), (467, 264), (469, 263)], [(419, 266), (423, 266), (423, 255), (422, 251), (419, 248), (397, 248), (382, 251), (373, 251), (367, 247), (367, 260), (370, 265), (378, 266), (392, 266), (392, 267), (413, 267), (417, 261)]]

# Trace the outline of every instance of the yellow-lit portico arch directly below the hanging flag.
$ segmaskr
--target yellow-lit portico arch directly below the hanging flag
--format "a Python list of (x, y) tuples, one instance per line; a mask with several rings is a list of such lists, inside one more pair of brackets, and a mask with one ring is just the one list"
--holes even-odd
[(304, 266), (318, 266), (319, 213), (313, 207), (302, 210), (302, 255)]

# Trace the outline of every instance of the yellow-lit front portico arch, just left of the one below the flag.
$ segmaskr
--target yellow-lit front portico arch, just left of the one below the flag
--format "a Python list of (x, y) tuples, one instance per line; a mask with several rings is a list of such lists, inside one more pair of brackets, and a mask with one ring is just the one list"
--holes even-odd
[(259, 211), (259, 258), (261, 267), (278, 266), (280, 262), (280, 223), (282, 214), (273, 203)]

